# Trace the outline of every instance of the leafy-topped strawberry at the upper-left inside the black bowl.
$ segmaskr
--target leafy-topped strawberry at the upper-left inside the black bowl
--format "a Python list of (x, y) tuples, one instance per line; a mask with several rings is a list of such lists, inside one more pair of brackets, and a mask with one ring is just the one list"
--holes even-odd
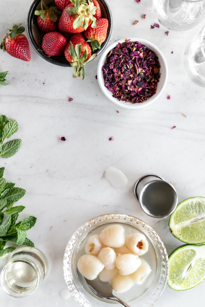
[(58, 21), (60, 19), (59, 10), (57, 6), (50, 6), (49, 8), (41, 0), (41, 10), (35, 11), (37, 17), (37, 26), (43, 33), (48, 33), (58, 28)]

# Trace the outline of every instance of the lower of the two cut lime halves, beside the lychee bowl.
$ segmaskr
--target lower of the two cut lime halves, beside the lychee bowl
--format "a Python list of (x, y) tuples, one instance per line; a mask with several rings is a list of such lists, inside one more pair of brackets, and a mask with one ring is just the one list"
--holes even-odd
[(205, 244), (182, 245), (169, 256), (168, 286), (176, 291), (197, 286), (205, 278)]

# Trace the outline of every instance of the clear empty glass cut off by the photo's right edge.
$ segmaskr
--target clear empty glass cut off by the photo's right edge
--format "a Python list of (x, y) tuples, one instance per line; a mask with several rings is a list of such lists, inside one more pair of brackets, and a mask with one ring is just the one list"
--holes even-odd
[(205, 25), (187, 45), (183, 67), (191, 81), (205, 87)]

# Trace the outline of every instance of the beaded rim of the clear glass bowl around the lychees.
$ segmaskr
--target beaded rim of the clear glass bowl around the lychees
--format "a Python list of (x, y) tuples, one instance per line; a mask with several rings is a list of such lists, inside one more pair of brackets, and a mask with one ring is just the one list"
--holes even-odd
[[(82, 285), (78, 278), (75, 277), (74, 274), (74, 264), (73, 264), (73, 258), (76, 257), (76, 248), (78, 246), (78, 242), (82, 238), (84, 239), (86, 235), (89, 234), (89, 232), (93, 229), (95, 229), (97, 226), (101, 226), (106, 223), (125, 223), (132, 225), (139, 229), (139, 227), (142, 227), (142, 232), (147, 235), (148, 239), (151, 241), (155, 252), (156, 252), (156, 261), (157, 261), (157, 270), (155, 278), (153, 280), (152, 286), (148, 288), (152, 290), (151, 295), (147, 298), (145, 297), (147, 294), (147, 291), (145, 291), (140, 297), (136, 298), (136, 300), (140, 299), (144, 296), (145, 304), (144, 307), (152, 306), (161, 296), (161, 294), (164, 291), (164, 288), (167, 284), (168, 279), (168, 255), (166, 248), (164, 246), (164, 243), (160, 239), (160, 237), (157, 235), (156, 231), (149, 226), (144, 221), (127, 214), (121, 214), (121, 213), (109, 213), (104, 214), (101, 216), (97, 216), (85, 224), (83, 224), (81, 227), (79, 227), (74, 234), (71, 236), (66, 249), (65, 254), (63, 258), (63, 271), (64, 271), (64, 278), (65, 282), (68, 286), (68, 289), (71, 293), (71, 295), (74, 297), (74, 299), (80, 304), (81, 307), (95, 307), (93, 302), (90, 302), (88, 297), (84, 295), (83, 291), (79, 289), (82, 288)], [(136, 226), (138, 225), (138, 226)], [(73, 257), (72, 257), (73, 256)], [(159, 262), (159, 263), (158, 263)], [(159, 278), (156, 278), (156, 276), (159, 276)], [(77, 287), (77, 283), (80, 283), (79, 287)], [(153, 286), (154, 284), (154, 286)], [(136, 300), (132, 300), (132, 303), (134, 303)], [(134, 303), (135, 304), (135, 303)], [(139, 301), (137, 302), (137, 305), (139, 306)]]

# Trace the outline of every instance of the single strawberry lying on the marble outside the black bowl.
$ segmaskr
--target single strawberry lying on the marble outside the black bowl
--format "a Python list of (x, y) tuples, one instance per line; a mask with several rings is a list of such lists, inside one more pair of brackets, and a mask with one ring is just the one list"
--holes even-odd
[(24, 34), (24, 27), (14, 25), (12, 30), (9, 30), (9, 33), (3, 38), (3, 41), (0, 45), (0, 49), (3, 51), (6, 50), (11, 56), (14, 56), (23, 61), (30, 61), (30, 49), (29, 42)]

